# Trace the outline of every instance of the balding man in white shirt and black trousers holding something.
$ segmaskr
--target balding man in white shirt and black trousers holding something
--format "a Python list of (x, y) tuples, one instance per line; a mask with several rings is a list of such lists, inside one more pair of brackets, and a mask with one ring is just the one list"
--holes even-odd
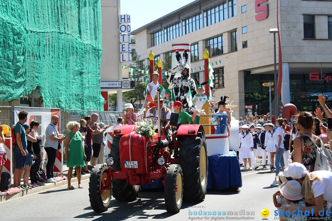
[(60, 180), (56, 179), (53, 175), (53, 165), (56, 159), (56, 151), (58, 150), (59, 142), (64, 140), (66, 137), (59, 135), (58, 129), (56, 128), (59, 122), (59, 117), (53, 115), (51, 117), (51, 122), (46, 127), (45, 131), (45, 151), (47, 154), (47, 164), (46, 164), (46, 179), (47, 183), (56, 183)]

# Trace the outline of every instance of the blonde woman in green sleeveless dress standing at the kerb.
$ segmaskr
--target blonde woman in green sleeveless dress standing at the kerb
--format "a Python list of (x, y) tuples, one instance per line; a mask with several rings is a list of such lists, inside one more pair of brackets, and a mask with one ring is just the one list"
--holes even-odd
[(71, 175), (73, 168), (76, 169), (78, 188), (82, 189), (81, 186), (81, 167), (85, 166), (84, 159), (86, 155), (84, 153), (84, 147), (82, 146), (82, 140), (85, 139), (85, 133), (80, 133), (78, 130), (80, 125), (78, 122), (70, 121), (66, 125), (70, 132), (66, 136), (65, 144), (65, 160), (67, 161), (68, 169), (68, 187), (67, 189), (74, 189), (70, 184)]

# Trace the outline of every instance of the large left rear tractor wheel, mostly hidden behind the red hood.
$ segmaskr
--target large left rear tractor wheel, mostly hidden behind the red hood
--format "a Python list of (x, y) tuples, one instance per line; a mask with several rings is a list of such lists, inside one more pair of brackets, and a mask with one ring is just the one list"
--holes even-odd
[[(120, 139), (122, 136), (115, 135), (111, 145), (111, 157), (114, 159), (113, 169), (121, 171), (120, 161)], [(117, 180), (112, 178), (112, 193), (115, 199), (123, 201), (133, 201), (139, 194), (139, 185), (127, 185), (126, 180)]]

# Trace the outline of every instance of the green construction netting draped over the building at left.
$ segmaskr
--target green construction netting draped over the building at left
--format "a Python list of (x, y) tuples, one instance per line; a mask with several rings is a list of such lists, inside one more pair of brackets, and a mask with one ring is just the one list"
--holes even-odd
[(102, 110), (99, 0), (0, 0), (0, 100)]

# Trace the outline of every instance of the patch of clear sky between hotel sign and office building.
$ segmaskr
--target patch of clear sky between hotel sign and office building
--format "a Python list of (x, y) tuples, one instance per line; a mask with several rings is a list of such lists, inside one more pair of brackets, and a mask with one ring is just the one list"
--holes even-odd
[(120, 0), (121, 14), (130, 15), (131, 30), (140, 28), (194, 0)]

